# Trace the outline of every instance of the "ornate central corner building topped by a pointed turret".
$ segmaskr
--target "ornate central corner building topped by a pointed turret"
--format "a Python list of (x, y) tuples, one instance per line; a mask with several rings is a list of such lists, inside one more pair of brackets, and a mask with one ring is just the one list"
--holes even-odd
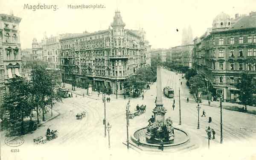
[(146, 64), (141, 32), (125, 29), (119, 11), (106, 30), (60, 39), (61, 76), (65, 83), (83, 84), (87, 77), (94, 90), (123, 93), (123, 81)]

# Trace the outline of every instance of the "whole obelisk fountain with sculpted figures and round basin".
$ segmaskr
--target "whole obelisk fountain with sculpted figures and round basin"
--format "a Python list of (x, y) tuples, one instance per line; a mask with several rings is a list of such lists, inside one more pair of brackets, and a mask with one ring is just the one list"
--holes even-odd
[(165, 119), (166, 108), (162, 101), (161, 67), (157, 66), (157, 98), (156, 106), (153, 109), (154, 117), (149, 125), (134, 132), (132, 140), (142, 145), (150, 146), (175, 146), (188, 142), (189, 135), (173, 126), (171, 117)]

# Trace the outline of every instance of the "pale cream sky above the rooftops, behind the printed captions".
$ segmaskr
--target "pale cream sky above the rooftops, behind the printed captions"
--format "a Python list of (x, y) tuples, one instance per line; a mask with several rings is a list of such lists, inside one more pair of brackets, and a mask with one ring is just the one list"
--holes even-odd
[[(57, 5), (58, 9), (24, 9), (24, 5)], [(101, 9), (68, 9), (68, 5), (104, 5)], [(0, 0), (0, 13), (21, 17), (21, 49), (32, 48), (32, 39), (63, 33), (95, 32), (108, 29), (115, 10), (121, 12), (126, 29), (143, 28), (151, 48), (170, 48), (181, 44), (184, 27), (201, 36), (212, 27), (221, 12), (256, 11), (256, 0)], [(55, 11), (54, 11), (55, 10)], [(178, 29), (178, 31), (176, 30)]]

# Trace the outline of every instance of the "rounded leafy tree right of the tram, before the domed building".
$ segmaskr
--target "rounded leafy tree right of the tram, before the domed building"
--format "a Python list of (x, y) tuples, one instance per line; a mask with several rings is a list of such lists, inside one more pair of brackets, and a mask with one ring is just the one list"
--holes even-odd
[(201, 93), (206, 92), (207, 88), (200, 76), (196, 75), (189, 79), (190, 93), (196, 95), (196, 98), (201, 101)]

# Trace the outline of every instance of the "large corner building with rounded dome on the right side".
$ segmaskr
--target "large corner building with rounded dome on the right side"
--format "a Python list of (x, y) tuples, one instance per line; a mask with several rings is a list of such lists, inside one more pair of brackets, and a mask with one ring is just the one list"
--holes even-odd
[(193, 67), (213, 94), (237, 101), (241, 73), (256, 77), (256, 12), (234, 19), (223, 12), (217, 15), (212, 28), (194, 40)]

